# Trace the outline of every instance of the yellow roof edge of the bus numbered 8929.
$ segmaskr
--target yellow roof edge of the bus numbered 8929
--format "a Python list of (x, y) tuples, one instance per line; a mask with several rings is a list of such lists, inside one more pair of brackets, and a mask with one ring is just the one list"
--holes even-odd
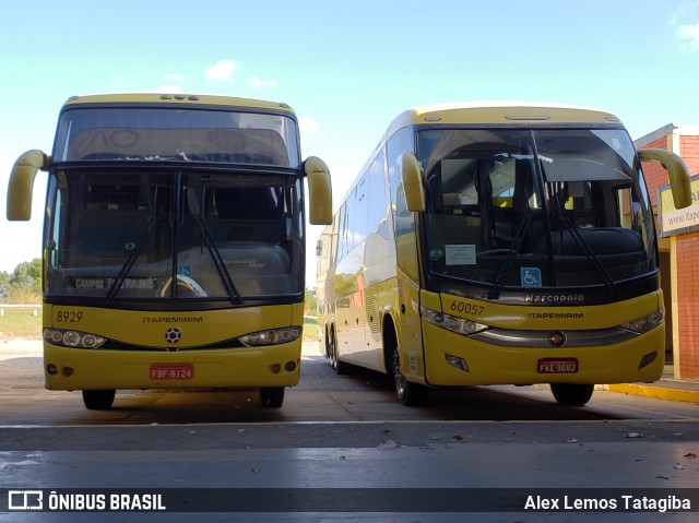
[(238, 98), (234, 96), (193, 95), (193, 94), (162, 94), (162, 93), (121, 93), (100, 94), (88, 96), (71, 96), (63, 107), (82, 104), (187, 104), (211, 105), (226, 107), (247, 107), (254, 109), (282, 110), (294, 115), (287, 104), (280, 102), (266, 102), (253, 98)]

